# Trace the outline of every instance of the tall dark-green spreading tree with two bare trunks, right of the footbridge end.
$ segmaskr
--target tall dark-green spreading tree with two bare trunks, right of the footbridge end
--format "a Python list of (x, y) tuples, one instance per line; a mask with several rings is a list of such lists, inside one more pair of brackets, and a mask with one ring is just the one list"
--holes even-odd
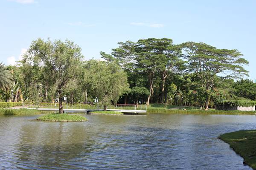
[(134, 58), (137, 61), (137, 70), (143, 71), (148, 76), (149, 91), (147, 105), (154, 94), (154, 80), (157, 74), (161, 75), (162, 86), (160, 101), (163, 102), (166, 77), (169, 72), (177, 71), (183, 64), (180, 59), (181, 49), (172, 44), (172, 39), (168, 38), (148, 38), (139, 40), (134, 47)]

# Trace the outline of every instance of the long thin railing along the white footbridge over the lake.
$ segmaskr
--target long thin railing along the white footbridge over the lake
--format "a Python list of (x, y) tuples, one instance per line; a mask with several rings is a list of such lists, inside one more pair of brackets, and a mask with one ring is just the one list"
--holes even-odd
[[(28, 108), (58, 108), (58, 103), (23, 103), (23, 106)], [(103, 109), (103, 105), (85, 105), (85, 104), (67, 104), (62, 103), (63, 108), (65, 109)], [(122, 110), (141, 110), (146, 111), (146, 105), (131, 105), (131, 104), (111, 104), (108, 105), (108, 109), (122, 109)]]

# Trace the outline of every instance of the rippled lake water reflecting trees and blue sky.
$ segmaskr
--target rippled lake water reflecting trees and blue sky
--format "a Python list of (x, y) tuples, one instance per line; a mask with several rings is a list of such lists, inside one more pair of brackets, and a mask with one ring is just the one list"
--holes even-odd
[(0, 169), (251, 170), (217, 137), (255, 129), (253, 115), (85, 116), (0, 116)]

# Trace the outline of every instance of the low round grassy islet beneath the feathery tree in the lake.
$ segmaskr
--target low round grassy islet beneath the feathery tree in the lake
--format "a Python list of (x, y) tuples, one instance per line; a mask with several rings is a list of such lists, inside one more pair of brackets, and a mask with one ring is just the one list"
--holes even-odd
[(41, 121), (52, 121), (52, 122), (84, 122), (87, 121), (84, 116), (67, 114), (67, 113), (52, 113), (44, 116), (40, 116), (37, 120)]

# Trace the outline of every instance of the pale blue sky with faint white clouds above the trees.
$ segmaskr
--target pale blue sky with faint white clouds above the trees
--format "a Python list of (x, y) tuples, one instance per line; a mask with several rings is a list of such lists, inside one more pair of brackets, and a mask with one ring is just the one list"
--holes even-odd
[(171, 38), (238, 49), (256, 79), (256, 0), (1, 0), (0, 61), (20, 59), (32, 40), (66, 38), (85, 59), (120, 41)]

